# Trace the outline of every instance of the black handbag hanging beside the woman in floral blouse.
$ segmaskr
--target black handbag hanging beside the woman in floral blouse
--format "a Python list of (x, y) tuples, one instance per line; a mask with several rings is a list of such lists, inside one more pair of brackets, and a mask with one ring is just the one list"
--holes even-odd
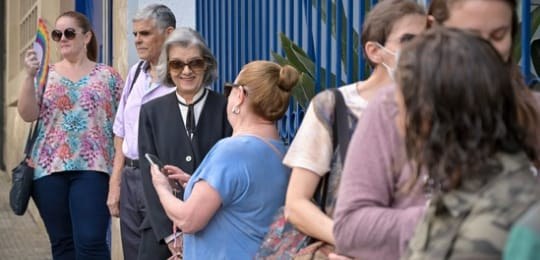
[[(40, 103), (43, 102), (43, 93), (40, 96)], [(40, 109), (41, 110), (41, 109)], [(32, 195), (32, 184), (34, 183), (34, 167), (28, 164), (30, 159), (30, 153), (34, 141), (36, 140), (38, 133), (39, 117), (34, 124), (34, 127), (30, 126), (30, 132), (26, 138), (26, 146), (24, 148), (24, 159), (17, 165), (17, 167), (11, 170), (11, 190), (9, 191), (9, 206), (13, 210), (13, 213), (18, 216), (22, 216), (28, 208), (28, 202)]]

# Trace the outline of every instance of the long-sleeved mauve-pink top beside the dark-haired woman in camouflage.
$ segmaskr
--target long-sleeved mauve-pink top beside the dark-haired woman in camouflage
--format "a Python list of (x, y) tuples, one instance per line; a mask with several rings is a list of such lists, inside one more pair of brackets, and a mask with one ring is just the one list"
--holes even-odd
[(420, 220), (426, 196), (412, 191), (404, 140), (398, 134), (394, 87), (379, 91), (349, 144), (334, 212), (336, 252), (360, 259), (399, 259)]

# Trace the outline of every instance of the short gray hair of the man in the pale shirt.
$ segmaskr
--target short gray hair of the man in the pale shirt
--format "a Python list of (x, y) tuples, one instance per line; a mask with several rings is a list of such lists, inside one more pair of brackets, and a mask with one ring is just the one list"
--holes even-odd
[(168, 27), (176, 28), (176, 18), (171, 9), (166, 5), (151, 4), (145, 6), (135, 14), (132, 21), (138, 22), (141, 20), (155, 21), (157, 28), (161, 31), (164, 31)]

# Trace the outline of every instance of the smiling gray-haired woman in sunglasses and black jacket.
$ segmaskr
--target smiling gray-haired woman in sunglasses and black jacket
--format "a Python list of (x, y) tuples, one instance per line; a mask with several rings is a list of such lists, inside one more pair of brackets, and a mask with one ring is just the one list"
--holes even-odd
[[(192, 174), (210, 148), (232, 132), (226, 98), (208, 88), (217, 77), (216, 59), (199, 33), (177, 28), (163, 44), (157, 76), (161, 84), (176, 91), (142, 105), (138, 154), (153, 154), (162, 163)], [(173, 229), (152, 185), (149, 162), (142, 159), (139, 165), (147, 212), (142, 239), (146, 234), (170, 250), (161, 250), (159, 256), (146, 253), (144, 259), (166, 259), (181, 250), (182, 243), (175, 243), (180, 233)], [(176, 196), (182, 198), (181, 187)]]

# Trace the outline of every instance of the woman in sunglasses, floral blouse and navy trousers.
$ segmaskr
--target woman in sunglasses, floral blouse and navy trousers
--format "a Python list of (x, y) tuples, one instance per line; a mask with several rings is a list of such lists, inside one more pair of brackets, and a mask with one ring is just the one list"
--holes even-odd
[(40, 61), (34, 50), (26, 52), (17, 105), (23, 120), (38, 120), (32, 198), (54, 259), (110, 259), (106, 200), (123, 81), (113, 68), (96, 63), (96, 36), (83, 14), (61, 14), (51, 38), (61, 60), (49, 66), (44, 60), (46, 84), (39, 88), (34, 77)]

